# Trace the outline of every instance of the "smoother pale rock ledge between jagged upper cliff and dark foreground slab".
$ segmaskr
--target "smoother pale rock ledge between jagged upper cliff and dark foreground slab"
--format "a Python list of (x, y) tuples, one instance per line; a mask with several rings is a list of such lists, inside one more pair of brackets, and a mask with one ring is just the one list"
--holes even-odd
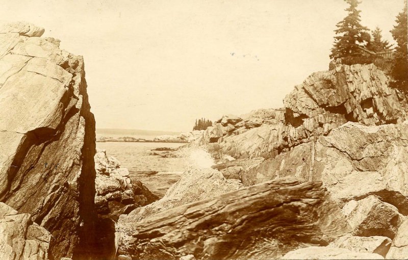
[(376, 195), (408, 215), (407, 146), (406, 123), (365, 126), (349, 122), (316, 142), (298, 145), (241, 173), (241, 180), (244, 185), (283, 176), (322, 180), (341, 206)]

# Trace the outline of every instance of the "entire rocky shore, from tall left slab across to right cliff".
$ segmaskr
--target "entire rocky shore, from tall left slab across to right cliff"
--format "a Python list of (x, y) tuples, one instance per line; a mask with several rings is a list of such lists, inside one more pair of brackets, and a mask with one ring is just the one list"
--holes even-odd
[(408, 255), (408, 101), (373, 64), (333, 62), (284, 108), (157, 151), (189, 162), (159, 199), (96, 150), (84, 59), (43, 33), (0, 27), (0, 258)]

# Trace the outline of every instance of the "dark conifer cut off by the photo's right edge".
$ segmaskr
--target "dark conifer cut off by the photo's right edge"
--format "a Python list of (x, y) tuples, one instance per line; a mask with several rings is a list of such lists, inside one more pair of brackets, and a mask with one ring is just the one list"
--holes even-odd
[(405, 93), (408, 92), (408, 55), (407, 55), (407, 7), (404, 1), (404, 9), (397, 15), (397, 22), (390, 32), (397, 42), (391, 76), (393, 77), (392, 87), (399, 88)]

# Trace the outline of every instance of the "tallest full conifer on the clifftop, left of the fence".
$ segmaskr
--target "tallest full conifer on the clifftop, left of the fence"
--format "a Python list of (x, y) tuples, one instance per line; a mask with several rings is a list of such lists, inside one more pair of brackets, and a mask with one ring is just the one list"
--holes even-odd
[(356, 7), (360, 4), (358, 0), (344, 0), (350, 6), (345, 9), (348, 15), (336, 24), (335, 43), (331, 48), (330, 59), (361, 56), (360, 46), (365, 46), (370, 41), (368, 28), (360, 24), (360, 10)]

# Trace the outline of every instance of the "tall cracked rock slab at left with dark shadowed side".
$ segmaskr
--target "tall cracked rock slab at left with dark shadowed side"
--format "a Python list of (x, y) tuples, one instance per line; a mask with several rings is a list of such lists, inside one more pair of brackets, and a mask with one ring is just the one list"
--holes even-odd
[(95, 246), (95, 121), (84, 60), (41, 38), (43, 28), (0, 29), (0, 197), (52, 234), (48, 257)]

